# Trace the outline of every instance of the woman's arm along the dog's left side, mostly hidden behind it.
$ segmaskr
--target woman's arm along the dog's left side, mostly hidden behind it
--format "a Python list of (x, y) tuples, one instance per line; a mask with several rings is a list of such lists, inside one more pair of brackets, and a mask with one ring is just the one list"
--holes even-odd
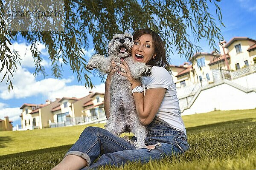
[[(116, 63), (112, 62), (112, 68), (116, 67)], [(104, 110), (106, 118), (108, 119), (110, 117), (110, 85), (111, 85), (111, 79), (113, 74), (118, 70), (118, 68), (112, 69), (111, 72), (108, 74), (108, 77), (105, 82), (105, 94), (104, 94)]]

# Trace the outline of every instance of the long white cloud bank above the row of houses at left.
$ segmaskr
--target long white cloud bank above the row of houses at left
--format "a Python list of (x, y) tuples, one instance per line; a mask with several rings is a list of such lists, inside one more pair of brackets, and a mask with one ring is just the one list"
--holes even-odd
[[(0, 76), (3, 76), (3, 73)], [(26, 68), (19, 66), (18, 71), (14, 73), (14, 78), (12, 79), (13, 91), (11, 90), (9, 93), (7, 85), (4, 82), (0, 83), (0, 98), (20, 99), (39, 95), (44, 96), (46, 99), (54, 100), (63, 96), (82, 97), (89, 94), (90, 89), (85, 88), (84, 85), (67, 85), (67, 83), (73, 80), (74, 77), (66, 79), (47, 78), (36, 81), (32, 73), (27, 71)], [(105, 84), (97, 85), (92, 91), (103, 93), (105, 91)]]

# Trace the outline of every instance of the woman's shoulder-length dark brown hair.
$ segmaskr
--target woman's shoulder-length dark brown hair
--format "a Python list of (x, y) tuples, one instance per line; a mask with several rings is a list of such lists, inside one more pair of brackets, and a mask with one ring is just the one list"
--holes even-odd
[(154, 59), (152, 58), (146, 65), (151, 65), (151, 66), (160, 66), (160, 67), (165, 67), (168, 66), (169, 63), (166, 60), (166, 50), (164, 43), (161, 39), (161, 37), (154, 31), (148, 28), (143, 28), (139, 29), (138, 31), (135, 31), (133, 35), (134, 41), (139, 39), (142, 35), (144, 34), (150, 34), (152, 37), (152, 43), (154, 45), (154, 53), (157, 54)]

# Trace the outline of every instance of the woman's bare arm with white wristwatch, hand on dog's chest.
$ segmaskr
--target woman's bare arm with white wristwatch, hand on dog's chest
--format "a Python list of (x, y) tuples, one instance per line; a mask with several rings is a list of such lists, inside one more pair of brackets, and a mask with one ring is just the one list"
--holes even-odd
[[(138, 85), (141, 86), (140, 80), (135, 80), (131, 77), (131, 73), (126, 62), (123, 61), (122, 65), (119, 66), (125, 69), (126, 73), (121, 71), (118, 73), (125, 76), (128, 81), (131, 82), (132, 88), (135, 88)], [(146, 91), (145, 96), (143, 93), (135, 92), (133, 94), (137, 115), (142, 125), (148, 125), (152, 122), (160, 108), (165, 93), (166, 88), (151, 88)]]

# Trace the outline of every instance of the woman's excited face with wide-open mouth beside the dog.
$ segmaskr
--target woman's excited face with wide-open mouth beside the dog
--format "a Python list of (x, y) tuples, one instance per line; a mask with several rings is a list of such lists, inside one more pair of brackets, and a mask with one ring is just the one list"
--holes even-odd
[(145, 64), (156, 56), (156, 54), (154, 54), (154, 46), (150, 34), (144, 34), (137, 40), (134, 40), (131, 56), (134, 61), (144, 62)]

